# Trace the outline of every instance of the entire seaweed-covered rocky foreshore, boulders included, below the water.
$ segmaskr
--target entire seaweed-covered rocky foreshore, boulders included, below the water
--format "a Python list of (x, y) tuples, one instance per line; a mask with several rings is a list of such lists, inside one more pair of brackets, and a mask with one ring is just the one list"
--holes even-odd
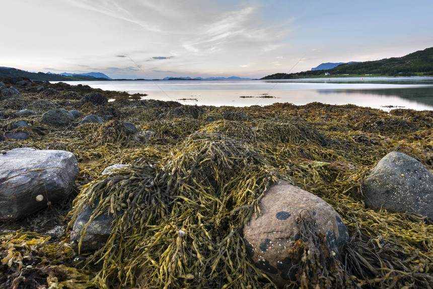
[(433, 112), (0, 79), (5, 288), (425, 288)]

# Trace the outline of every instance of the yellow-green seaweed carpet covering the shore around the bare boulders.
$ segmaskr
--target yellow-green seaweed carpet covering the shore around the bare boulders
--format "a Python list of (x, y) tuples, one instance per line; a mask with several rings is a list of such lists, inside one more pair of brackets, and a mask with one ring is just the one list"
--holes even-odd
[[(47, 149), (55, 142), (77, 156), (78, 184), (84, 186), (69, 214), (70, 224), (83, 205), (95, 200), (99, 200), (95, 216), (104, 212), (116, 216), (103, 248), (83, 255), (85, 261), (56, 267), (50, 278), (61, 280), (61, 270), (74, 272), (70, 288), (89, 284), (105, 288), (272, 287), (266, 274), (248, 259), (242, 226), (260, 213), (257, 204), (265, 189), (277, 179), (286, 179), (330, 203), (350, 235), (341, 260), (330, 261), (323, 240), (314, 232), (314, 220), (300, 220), (305, 238), (289, 253), (302, 256), (303, 262), (297, 280), (288, 287), (431, 286), (431, 222), (413, 213), (375, 211), (362, 201), (363, 179), (389, 152), (403, 152), (431, 171), (431, 111), (387, 113), (353, 105), (276, 103), (245, 108), (184, 106), (170, 113), (180, 105), (130, 100), (123, 95), (104, 108), (80, 107), (77, 100), (62, 99), (67, 93), (39, 94), (38, 98), (100, 116), (108, 107), (115, 108), (115, 118), (157, 134), (150, 141), (140, 141), (115, 120), (57, 129), (40, 123), (39, 115), (20, 118), (38, 128), (31, 130), (34, 139), (0, 142), (0, 149), (5, 150)], [(10, 100), (6, 110), (0, 111), (6, 120), (2, 131), (10, 129), (11, 107), (26, 108), (33, 101), (31, 93)], [(131, 166), (99, 176), (115, 163)], [(186, 235), (181, 237), (179, 230)], [(20, 239), (20, 234), (24, 233), (3, 236), (3, 248), (12, 246), (11, 238), (20, 240), (20, 248), (33, 240)], [(60, 246), (57, 254), (70, 258), (70, 249), (61, 247), (66, 244), (61, 242), (52, 243)], [(49, 252), (44, 249), (39, 254), (56, 264), (58, 257)], [(5, 259), (4, 266), (11, 265), (16, 273), (24, 270), (19, 261), (10, 260)]]

